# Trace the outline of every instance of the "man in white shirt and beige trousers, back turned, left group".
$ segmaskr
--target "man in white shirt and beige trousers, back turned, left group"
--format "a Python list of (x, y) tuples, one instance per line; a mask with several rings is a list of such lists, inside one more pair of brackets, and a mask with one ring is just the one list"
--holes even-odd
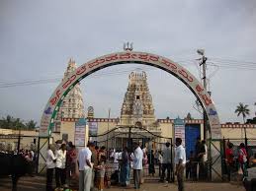
[(89, 143), (88, 147), (80, 150), (78, 154), (79, 191), (90, 191), (91, 189), (93, 163), (91, 163), (92, 152), (90, 148), (93, 146), (93, 143)]

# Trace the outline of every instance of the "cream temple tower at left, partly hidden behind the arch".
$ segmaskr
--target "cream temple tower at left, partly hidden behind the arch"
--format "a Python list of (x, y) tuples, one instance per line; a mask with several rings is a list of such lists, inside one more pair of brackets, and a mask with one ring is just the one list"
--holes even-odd
[[(67, 65), (67, 69), (64, 73), (64, 78), (68, 76), (71, 72), (73, 72), (77, 68), (74, 60), (70, 59)], [(63, 80), (63, 79), (62, 79)], [(80, 84), (76, 84), (76, 86), (64, 97), (56, 119), (55, 119), (55, 132), (59, 132), (60, 130), (60, 122), (63, 118), (69, 119), (78, 119), (84, 118), (84, 103), (83, 97), (80, 89)]]

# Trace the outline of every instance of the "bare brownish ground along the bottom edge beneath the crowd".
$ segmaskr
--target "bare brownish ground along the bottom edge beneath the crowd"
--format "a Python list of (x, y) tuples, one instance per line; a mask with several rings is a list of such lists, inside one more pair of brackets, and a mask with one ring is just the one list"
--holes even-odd
[[(19, 181), (18, 191), (44, 191), (45, 178), (42, 176), (35, 177), (22, 177)], [(11, 179), (4, 178), (0, 179), (0, 191), (11, 190)], [(125, 191), (134, 190), (132, 187), (112, 187), (105, 189), (106, 191)], [(177, 185), (170, 183), (144, 183), (140, 191), (176, 191)], [(232, 185), (229, 183), (185, 183), (186, 191), (244, 191), (245, 189), (241, 185)]]

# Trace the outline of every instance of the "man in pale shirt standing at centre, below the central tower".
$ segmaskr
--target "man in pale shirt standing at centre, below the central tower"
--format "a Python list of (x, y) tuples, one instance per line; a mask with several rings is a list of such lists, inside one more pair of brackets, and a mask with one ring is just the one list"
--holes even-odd
[(142, 159), (143, 159), (143, 152), (138, 146), (137, 143), (134, 144), (134, 154), (132, 159), (132, 167), (133, 167), (133, 181), (134, 181), (134, 188), (140, 188), (140, 171), (142, 169)]

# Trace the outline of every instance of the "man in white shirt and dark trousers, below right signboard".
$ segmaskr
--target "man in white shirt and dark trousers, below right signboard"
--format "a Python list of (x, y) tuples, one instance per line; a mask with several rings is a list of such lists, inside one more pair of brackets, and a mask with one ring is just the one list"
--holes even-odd
[(175, 175), (177, 175), (178, 180), (178, 191), (184, 191), (184, 169), (186, 165), (186, 152), (181, 145), (182, 139), (176, 138), (176, 151), (175, 151)]

